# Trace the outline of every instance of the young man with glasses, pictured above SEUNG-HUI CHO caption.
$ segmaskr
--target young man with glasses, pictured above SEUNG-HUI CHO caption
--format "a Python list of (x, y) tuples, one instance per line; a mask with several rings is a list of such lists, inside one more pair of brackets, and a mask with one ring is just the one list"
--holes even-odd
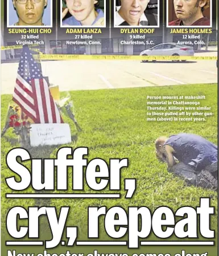
[(43, 12), (47, 0), (13, 0), (18, 14), (18, 22), (14, 26), (44, 26)]

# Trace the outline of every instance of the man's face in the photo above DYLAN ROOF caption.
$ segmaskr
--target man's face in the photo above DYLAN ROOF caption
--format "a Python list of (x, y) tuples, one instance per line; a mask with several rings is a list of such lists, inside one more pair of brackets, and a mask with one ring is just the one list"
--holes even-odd
[(119, 14), (130, 25), (138, 25), (144, 10), (150, 0), (121, 0)]

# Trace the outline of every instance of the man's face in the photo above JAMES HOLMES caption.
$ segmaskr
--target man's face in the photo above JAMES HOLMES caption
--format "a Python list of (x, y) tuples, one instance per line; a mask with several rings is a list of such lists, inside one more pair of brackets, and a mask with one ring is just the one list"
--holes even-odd
[(177, 19), (185, 21), (196, 16), (196, 13), (202, 7), (200, 0), (173, 0)]

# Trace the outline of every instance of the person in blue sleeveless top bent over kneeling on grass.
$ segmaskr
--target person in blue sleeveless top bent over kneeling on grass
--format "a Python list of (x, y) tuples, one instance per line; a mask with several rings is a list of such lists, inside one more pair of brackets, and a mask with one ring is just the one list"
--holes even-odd
[(191, 184), (197, 186), (209, 187), (209, 182), (213, 182), (213, 188), (217, 189), (218, 149), (210, 141), (199, 135), (179, 133), (170, 137), (159, 137), (155, 141), (155, 148), (156, 156), (167, 162), (170, 172), (187, 178)]

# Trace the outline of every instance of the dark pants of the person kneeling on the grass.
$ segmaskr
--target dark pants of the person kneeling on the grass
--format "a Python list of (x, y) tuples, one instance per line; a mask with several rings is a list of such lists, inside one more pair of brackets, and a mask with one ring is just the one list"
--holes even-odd
[(213, 190), (218, 188), (218, 163), (208, 165), (204, 170), (196, 172), (191, 166), (180, 162), (173, 165), (168, 171), (183, 178), (187, 185), (201, 186)]

